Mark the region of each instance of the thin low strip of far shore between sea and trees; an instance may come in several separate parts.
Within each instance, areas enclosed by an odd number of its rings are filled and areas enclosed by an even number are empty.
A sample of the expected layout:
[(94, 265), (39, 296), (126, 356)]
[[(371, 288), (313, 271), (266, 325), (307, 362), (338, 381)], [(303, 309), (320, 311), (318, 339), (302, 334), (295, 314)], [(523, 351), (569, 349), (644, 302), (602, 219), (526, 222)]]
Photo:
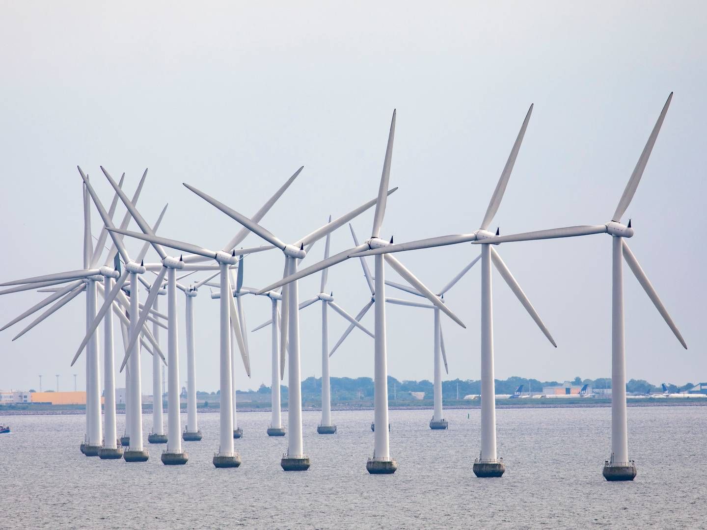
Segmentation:
[[(538, 403), (538, 399), (533, 399), (529, 402), (527, 399), (523, 400), (510, 400), (512, 403), (506, 403), (506, 399), (496, 401), (496, 409), (506, 409), (506, 408), (607, 408), (611, 406), (610, 399), (543, 399), (542, 402)], [(629, 399), (627, 401), (629, 407), (664, 407), (664, 406), (707, 406), (706, 398), (661, 398), (661, 399)], [(32, 410), (31, 408), (14, 408), (13, 406), (0, 406), (0, 417), (2, 416), (75, 416), (75, 415), (86, 415), (85, 408), (64, 408), (64, 406), (44, 406), (49, 408), (37, 408)], [(431, 411), (432, 404), (420, 404), (418, 406), (390, 406), (391, 411)], [(447, 410), (474, 410), (479, 409), (479, 401), (469, 401), (469, 404), (453, 404), (445, 405)], [(303, 411), (321, 411), (321, 406), (303, 406)], [(164, 409), (165, 413), (167, 409)], [(217, 413), (218, 408), (208, 407), (199, 408), (199, 413)], [(270, 412), (269, 407), (244, 407), (238, 408), (239, 413), (247, 412)], [(287, 407), (282, 408), (283, 412), (287, 411)], [(337, 406), (332, 405), (332, 411), (373, 411), (373, 404), (366, 404), (361, 406)], [(152, 407), (144, 407), (143, 413), (148, 414), (152, 412)], [(182, 407), (182, 412), (186, 412), (186, 408)], [(124, 414), (124, 409), (118, 410), (118, 414)]]

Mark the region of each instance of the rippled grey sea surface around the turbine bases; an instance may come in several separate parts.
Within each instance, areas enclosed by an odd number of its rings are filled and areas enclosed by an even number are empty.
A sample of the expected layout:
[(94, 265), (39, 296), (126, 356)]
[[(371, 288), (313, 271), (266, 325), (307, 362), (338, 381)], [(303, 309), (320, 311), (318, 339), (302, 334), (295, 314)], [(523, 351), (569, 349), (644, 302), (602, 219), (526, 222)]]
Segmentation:
[(240, 414), (238, 469), (211, 464), (217, 413), (200, 416), (185, 466), (149, 444), (144, 464), (84, 457), (83, 416), (0, 418), (13, 429), (0, 435), (0, 528), (707, 528), (707, 406), (629, 408), (632, 483), (602, 478), (609, 408), (497, 414), (500, 479), (472, 473), (478, 410), (446, 411), (448, 431), (428, 428), (431, 411), (391, 411), (392, 476), (366, 472), (373, 411), (335, 411), (333, 436), (305, 412), (312, 467), (300, 473), (281, 471), (286, 440), (265, 434), (269, 413)]

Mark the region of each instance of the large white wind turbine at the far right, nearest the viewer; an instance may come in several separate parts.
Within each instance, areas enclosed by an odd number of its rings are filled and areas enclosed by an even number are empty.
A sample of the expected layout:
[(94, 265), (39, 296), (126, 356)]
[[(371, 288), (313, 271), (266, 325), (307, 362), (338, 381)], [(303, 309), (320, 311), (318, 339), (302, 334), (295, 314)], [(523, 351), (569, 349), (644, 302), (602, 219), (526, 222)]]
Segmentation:
[[(682, 335), (668, 314), (665, 306), (660, 301), (658, 293), (655, 292), (643, 268), (638, 264), (638, 260), (629, 249), (626, 238), (633, 236), (631, 220), (628, 225), (621, 223), (621, 217), (626, 213), (626, 208), (631, 204), (633, 195), (636, 194), (639, 182), (643, 176), (645, 166), (648, 164), (655, 140), (658, 138), (660, 127), (667, 114), (672, 100), (672, 92), (667, 98), (665, 105), (658, 116), (658, 121), (653, 126), (648, 141), (645, 143), (643, 152), (638, 158), (638, 163), (633, 169), (631, 178), (626, 184), (624, 193), (619, 199), (616, 211), (611, 220), (604, 225), (583, 225), (568, 226), (564, 228), (554, 228), (550, 230), (539, 230), (537, 232), (525, 232), (522, 234), (508, 235), (502, 237), (491, 237), (482, 243), (501, 243), (510, 241), (531, 241), (542, 239), (553, 239), (556, 237), (575, 237), (579, 235), (609, 234), (612, 236), (612, 452), (607, 461), (604, 461), (602, 474), (607, 481), (632, 481), (636, 477), (636, 464), (629, 459), (629, 437), (626, 425), (626, 343), (624, 340), (624, 272), (621, 266), (621, 259), (626, 260), (629, 269), (636, 276), (648, 298), (653, 302), (655, 308), (663, 317), (665, 323), (670, 327), (674, 336), (687, 349), (687, 345)], [(489, 248), (483, 245), (482, 249)]]

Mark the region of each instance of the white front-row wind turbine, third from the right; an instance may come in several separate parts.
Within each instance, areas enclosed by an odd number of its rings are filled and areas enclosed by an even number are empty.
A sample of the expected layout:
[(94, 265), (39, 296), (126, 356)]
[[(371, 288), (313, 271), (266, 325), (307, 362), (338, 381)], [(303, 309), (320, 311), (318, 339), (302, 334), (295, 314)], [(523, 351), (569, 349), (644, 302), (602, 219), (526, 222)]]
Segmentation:
[[(385, 159), (383, 162), (383, 170), (380, 177), (380, 186), (378, 188), (378, 199), (375, 201), (375, 214), (373, 216), (373, 230), (368, 240), (363, 242), (363, 245), (357, 245), (353, 249), (344, 250), (339, 254), (320, 261), (317, 264), (296, 271), (296, 269), (285, 269), (286, 277), (267, 288), (259, 291), (258, 294), (265, 293), (269, 290), (278, 288), (280, 285), (286, 285), (284, 292), (294, 289), (299, 278), (308, 276), (312, 273), (326, 269), (329, 266), (340, 263), (352, 257), (357, 252), (363, 252), (368, 249), (386, 247), (392, 244), (380, 238), (380, 228), (385, 216), (385, 204), (387, 196), (388, 182), (390, 180), (390, 163), (392, 160), (393, 138), (395, 136), (395, 110), (393, 111), (392, 120), (390, 122), (390, 133), (388, 134), (388, 142), (385, 150)], [(397, 188), (395, 188), (397, 189)], [(383, 271), (384, 257), (378, 256), (375, 258), (375, 297), (373, 305), (375, 305), (375, 423), (378, 425), (388, 425), (388, 391), (387, 391), (387, 355), (386, 355), (386, 338), (385, 338), (385, 275)], [(413, 273), (400, 263), (395, 257), (386, 255), (385, 261), (392, 266), (400, 276), (405, 278), (411, 285), (414, 285), (421, 293), (423, 293), (432, 303), (440, 308), (452, 320), (465, 327), (463, 322), (456, 317), (448, 307), (440, 302), (439, 298), (432, 293), (421, 281), (419, 281)], [(292, 282), (292, 283), (291, 283)], [(290, 285), (291, 283), (291, 285)], [(296, 304), (291, 306), (293, 313), (296, 315)], [(369, 457), (366, 462), (366, 469), (369, 473), (375, 474), (390, 474), (395, 473), (397, 462), (390, 457), (390, 441), (388, 438), (387, 429), (378, 429), (375, 431), (375, 448), (373, 457)]]

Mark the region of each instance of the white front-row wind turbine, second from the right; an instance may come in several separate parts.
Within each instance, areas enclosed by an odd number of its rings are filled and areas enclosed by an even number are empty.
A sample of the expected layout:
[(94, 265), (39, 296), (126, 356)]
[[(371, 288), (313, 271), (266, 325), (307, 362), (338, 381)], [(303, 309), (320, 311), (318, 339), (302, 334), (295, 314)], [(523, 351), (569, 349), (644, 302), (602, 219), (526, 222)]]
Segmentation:
[[(472, 232), (470, 234), (459, 234), (459, 235), (445, 235), (441, 237), (431, 237), (424, 240), (417, 240), (397, 245), (392, 245), (392, 243), (379, 242), (377, 240), (375, 245), (368, 245), (370, 249), (361, 248), (351, 249), (347, 251), (344, 258), (346, 257), (363, 257), (375, 255), (376, 260), (380, 259), (380, 256), (385, 255), (386, 258), (390, 258), (389, 252), (402, 252), (406, 250), (413, 249), (423, 249), (431, 247), (440, 247), (444, 245), (455, 245), (463, 242), (471, 242), (476, 240), (484, 240), (488, 237), (493, 237), (493, 232), (489, 232), (489, 225), (493, 217), (498, 211), (498, 206), (501, 206), (501, 199), (503, 199), (503, 193), (506, 191), (506, 186), (508, 184), (508, 179), (510, 179), (510, 173), (513, 170), (513, 165), (515, 165), (515, 159), (518, 157), (518, 151), (520, 150), (520, 144), (522, 143), (523, 136), (525, 136), (525, 129), (527, 129), (528, 121), (530, 120), (530, 114), (532, 113), (533, 106), (530, 105), (525, 120), (523, 120), (522, 126), (520, 127), (520, 132), (515, 139), (513, 148), (510, 151), (508, 160), (506, 161), (506, 166), (503, 167), (501, 172), (501, 177), (498, 179), (498, 184), (496, 184), (496, 189), (493, 191), (491, 196), (491, 201), (489, 201), (489, 206), (486, 208), (486, 214), (484, 215), (484, 220), (481, 221), (481, 228)], [(497, 230), (498, 232), (498, 230)], [(342, 253), (344, 254), (344, 253)], [(378, 261), (376, 261), (378, 264)], [(539, 326), (543, 334), (547, 337), (550, 343), (556, 347), (555, 341), (550, 335), (547, 327), (540, 319), (539, 314), (534, 310), (530, 300), (527, 299), (525, 293), (523, 293), (518, 282), (513, 278), (513, 274), (510, 273), (508, 267), (501, 259), (501, 256), (489, 245), (484, 245), (481, 251), (481, 452), (479, 458), (474, 461), (474, 474), (478, 477), (499, 477), (503, 475), (506, 471), (506, 466), (503, 464), (503, 459), (498, 458), (498, 452), (496, 450), (496, 391), (494, 389), (494, 376), (493, 376), (493, 306), (491, 300), (491, 263), (496, 266), (496, 269), (503, 279), (508, 283), (508, 286), (513, 293), (518, 298), (520, 303), (525, 307), (525, 310), (530, 314), (530, 317)], [(382, 273), (382, 266), (380, 267), (380, 272)], [(399, 271), (398, 271), (399, 272)], [(378, 266), (376, 266), (375, 282), (378, 285), (383, 282), (382, 277), (379, 280), (381, 274), (378, 273)], [(411, 283), (409, 278), (404, 274), (401, 274), (408, 283)], [(425, 294), (428, 300), (433, 302), (440, 310), (446, 312), (445, 305), (441, 302), (439, 298), (433, 293), (423, 292), (418, 285), (411, 283), (414, 288), (420, 290), (421, 293)], [(425, 288), (426, 289), (426, 288)], [(377, 300), (378, 302), (378, 300)], [(376, 331), (376, 336), (378, 336), (378, 331)], [(378, 420), (376, 420), (378, 423)]]

